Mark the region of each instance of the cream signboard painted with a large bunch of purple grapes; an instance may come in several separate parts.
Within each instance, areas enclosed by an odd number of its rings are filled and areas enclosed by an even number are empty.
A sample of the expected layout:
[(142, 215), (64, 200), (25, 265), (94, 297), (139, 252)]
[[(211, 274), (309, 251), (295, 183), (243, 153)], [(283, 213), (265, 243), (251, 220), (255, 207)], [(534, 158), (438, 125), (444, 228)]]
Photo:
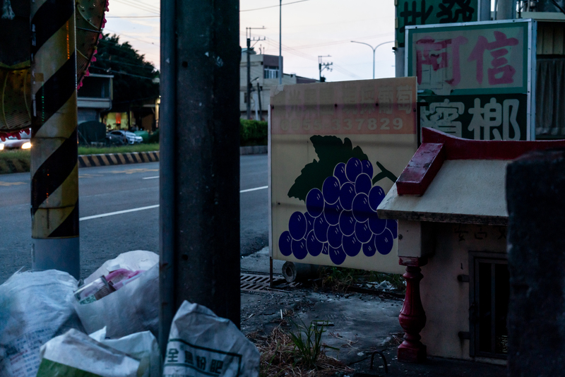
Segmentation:
[(398, 224), (376, 207), (417, 149), (416, 79), (270, 93), (271, 256), (402, 273)]

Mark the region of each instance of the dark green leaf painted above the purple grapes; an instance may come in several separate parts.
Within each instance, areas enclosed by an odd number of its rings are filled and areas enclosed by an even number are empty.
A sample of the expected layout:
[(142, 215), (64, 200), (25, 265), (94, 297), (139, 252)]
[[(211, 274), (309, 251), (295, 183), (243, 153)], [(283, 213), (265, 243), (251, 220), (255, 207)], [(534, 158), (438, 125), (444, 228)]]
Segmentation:
[(347, 163), (350, 158), (369, 160), (369, 157), (359, 148), (353, 148), (351, 140), (341, 140), (337, 136), (314, 135), (310, 138), (319, 160), (313, 160), (301, 171), (295, 179), (295, 184), (288, 191), (289, 198), (306, 201), (306, 196), (312, 188), (322, 189), (323, 181), (333, 175), (335, 165), (340, 162)]

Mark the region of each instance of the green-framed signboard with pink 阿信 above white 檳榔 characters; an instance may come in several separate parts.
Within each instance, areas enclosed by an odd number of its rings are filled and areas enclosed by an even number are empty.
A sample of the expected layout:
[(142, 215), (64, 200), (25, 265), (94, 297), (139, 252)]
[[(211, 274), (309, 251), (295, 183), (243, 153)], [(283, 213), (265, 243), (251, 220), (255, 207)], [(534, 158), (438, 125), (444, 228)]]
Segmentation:
[(475, 140), (533, 140), (535, 21), (406, 28), (421, 126)]

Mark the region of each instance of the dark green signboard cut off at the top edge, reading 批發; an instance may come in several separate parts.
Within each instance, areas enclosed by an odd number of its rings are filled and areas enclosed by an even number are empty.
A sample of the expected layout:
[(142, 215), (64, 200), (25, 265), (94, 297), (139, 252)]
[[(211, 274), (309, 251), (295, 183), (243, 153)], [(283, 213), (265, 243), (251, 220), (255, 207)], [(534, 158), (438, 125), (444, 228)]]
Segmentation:
[(478, 0), (398, 0), (396, 5), (396, 44), (404, 47), (408, 25), (468, 23), (478, 20)]

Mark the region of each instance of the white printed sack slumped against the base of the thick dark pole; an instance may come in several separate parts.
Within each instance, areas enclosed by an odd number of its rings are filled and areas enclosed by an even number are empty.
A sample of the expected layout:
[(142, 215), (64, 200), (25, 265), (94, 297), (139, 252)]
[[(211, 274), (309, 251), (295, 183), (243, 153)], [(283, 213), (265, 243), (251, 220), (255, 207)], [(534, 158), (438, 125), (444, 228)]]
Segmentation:
[(172, 320), (163, 377), (257, 377), (259, 357), (232, 321), (184, 301)]

